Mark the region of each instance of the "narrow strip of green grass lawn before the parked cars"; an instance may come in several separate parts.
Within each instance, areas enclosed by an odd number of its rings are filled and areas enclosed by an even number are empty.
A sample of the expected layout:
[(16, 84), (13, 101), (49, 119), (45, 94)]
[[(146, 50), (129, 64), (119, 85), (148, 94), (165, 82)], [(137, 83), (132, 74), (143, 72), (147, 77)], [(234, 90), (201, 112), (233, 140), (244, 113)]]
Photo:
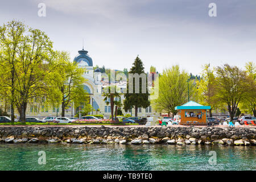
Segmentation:
[[(9, 125), (9, 126), (27, 126), (27, 125), (122, 125), (122, 123), (118, 124), (112, 124), (112, 123), (104, 123), (104, 124), (99, 124), (99, 123), (39, 123), (39, 122), (26, 122), (26, 123), (21, 123), (21, 122), (14, 122), (12, 123), (0, 123), (1, 125)], [(127, 123), (126, 125), (139, 125), (138, 123)]]

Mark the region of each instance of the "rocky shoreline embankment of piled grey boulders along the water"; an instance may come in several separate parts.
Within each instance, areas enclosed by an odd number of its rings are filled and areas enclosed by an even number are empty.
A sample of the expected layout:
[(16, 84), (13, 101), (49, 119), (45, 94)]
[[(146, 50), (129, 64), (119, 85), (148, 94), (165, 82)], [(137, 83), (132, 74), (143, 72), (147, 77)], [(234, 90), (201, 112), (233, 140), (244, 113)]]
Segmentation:
[(255, 139), (255, 128), (237, 127), (0, 127), (0, 143), (255, 146)]

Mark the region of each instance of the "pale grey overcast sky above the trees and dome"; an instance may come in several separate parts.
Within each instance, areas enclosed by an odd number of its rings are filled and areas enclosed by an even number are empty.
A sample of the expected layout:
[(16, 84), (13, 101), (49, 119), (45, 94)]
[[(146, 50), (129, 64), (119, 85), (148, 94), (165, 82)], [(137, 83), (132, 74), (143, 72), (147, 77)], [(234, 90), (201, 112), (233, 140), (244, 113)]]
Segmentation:
[[(38, 4), (46, 4), (46, 17)], [(217, 16), (210, 17), (209, 3)], [(131, 68), (139, 55), (146, 72), (179, 64), (198, 75), (201, 65), (243, 68), (256, 58), (255, 0), (23, 0), (1, 1), (0, 23), (22, 20), (47, 33), (71, 59), (84, 48), (93, 65)]]

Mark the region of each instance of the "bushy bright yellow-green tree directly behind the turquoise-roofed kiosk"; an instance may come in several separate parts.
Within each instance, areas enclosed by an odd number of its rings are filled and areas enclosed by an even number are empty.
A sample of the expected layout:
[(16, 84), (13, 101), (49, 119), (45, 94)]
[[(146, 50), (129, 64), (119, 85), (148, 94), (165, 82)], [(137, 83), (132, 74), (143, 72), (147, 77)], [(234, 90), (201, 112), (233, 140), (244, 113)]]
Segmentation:
[(164, 69), (159, 77), (159, 96), (152, 100), (152, 106), (160, 113), (174, 113), (175, 106), (180, 106), (188, 101), (188, 88), (190, 100), (197, 100), (196, 86), (185, 71), (180, 71), (179, 65)]

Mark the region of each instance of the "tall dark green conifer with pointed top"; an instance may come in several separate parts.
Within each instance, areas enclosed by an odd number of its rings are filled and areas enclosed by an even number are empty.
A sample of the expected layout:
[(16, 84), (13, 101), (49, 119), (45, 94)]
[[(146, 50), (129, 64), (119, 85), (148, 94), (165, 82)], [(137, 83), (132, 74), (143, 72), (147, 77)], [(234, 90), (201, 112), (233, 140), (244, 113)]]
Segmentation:
[[(139, 76), (137, 80), (134, 76)], [(139, 81), (138, 86), (136, 86), (136, 81)], [(133, 84), (133, 90), (129, 90), (130, 84)], [(137, 88), (135, 88), (137, 87)], [(136, 93), (136, 89), (139, 91)], [(146, 89), (146, 93), (143, 93), (142, 90)], [(146, 108), (150, 106), (150, 100), (148, 100), (148, 93), (147, 89), (147, 76), (144, 72), (144, 67), (142, 60), (139, 59), (137, 56), (133, 67), (131, 67), (129, 71), (129, 78), (127, 82), (127, 93), (125, 93), (125, 100), (123, 101), (123, 108), (125, 111), (131, 108), (135, 108), (135, 117), (138, 115), (138, 107)]]

